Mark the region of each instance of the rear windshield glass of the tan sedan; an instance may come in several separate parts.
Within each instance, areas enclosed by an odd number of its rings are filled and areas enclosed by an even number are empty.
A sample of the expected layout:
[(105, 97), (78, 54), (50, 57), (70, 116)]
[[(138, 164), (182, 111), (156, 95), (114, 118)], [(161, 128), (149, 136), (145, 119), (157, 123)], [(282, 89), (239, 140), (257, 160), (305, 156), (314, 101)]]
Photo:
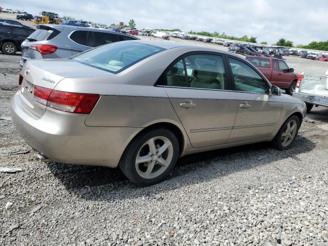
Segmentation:
[(119, 73), (158, 52), (166, 50), (154, 45), (124, 41), (100, 46), (72, 57), (78, 63), (111, 73)]

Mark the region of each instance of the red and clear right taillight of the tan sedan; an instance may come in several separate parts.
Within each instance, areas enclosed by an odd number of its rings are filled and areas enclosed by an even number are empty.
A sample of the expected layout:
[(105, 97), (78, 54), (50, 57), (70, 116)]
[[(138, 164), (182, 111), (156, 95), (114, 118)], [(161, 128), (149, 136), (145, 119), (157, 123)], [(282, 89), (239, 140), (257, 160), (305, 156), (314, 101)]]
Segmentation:
[(34, 86), (34, 100), (59, 111), (90, 114), (98, 99), (98, 94), (72, 93)]

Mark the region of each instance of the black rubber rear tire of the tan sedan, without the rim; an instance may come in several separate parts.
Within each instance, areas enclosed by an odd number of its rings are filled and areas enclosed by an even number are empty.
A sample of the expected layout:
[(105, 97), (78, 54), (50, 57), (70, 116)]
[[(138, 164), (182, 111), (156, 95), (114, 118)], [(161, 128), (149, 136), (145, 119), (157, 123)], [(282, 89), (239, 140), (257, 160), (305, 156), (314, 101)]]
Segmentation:
[[(146, 144), (146, 142), (154, 137), (165, 137), (171, 141), (173, 156), (170, 164), (167, 166), (165, 171), (154, 178), (144, 178), (141, 177), (136, 168), (136, 158), (139, 154), (140, 149), (142, 146)], [(121, 169), (122, 173), (129, 178), (132, 182), (136, 183), (139, 186), (151, 186), (155, 183), (158, 183), (165, 179), (171, 170), (174, 168), (176, 161), (179, 156), (179, 142), (177, 137), (173, 132), (168, 129), (160, 128), (160, 129), (153, 129), (148, 132), (141, 133), (139, 136), (135, 137), (123, 153), (118, 166)], [(159, 156), (160, 157), (160, 156)], [(145, 163), (144, 163), (145, 164)]]

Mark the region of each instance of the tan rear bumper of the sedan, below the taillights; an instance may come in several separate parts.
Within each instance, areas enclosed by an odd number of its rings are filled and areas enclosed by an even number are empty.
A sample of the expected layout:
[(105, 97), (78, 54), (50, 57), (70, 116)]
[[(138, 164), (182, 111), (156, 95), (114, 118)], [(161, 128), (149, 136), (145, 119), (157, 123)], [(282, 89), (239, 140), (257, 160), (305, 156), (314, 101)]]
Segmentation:
[(11, 99), (13, 124), (28, 145), (49, 159), (61, 163), (115, 168), (130, 140), (142, 128), (87, 127), (88, 115), (47, 108), (37, 118), (20, 102)]

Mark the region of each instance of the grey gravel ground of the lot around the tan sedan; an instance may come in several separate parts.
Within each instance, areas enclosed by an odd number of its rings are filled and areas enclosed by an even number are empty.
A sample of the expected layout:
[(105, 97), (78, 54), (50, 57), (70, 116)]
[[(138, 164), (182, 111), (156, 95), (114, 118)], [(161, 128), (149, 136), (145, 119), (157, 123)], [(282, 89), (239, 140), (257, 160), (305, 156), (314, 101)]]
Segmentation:
[[(0, 118), (19, 58), (0, 53)], [(2, 119), (0, 166), (23, 172), (0, 173), (0, 245), (328, 245), (328, 109), (314, 108), (295, 144), (183, 157), (167, 180), (139, 188), (118, 169), (40, 162)]]

